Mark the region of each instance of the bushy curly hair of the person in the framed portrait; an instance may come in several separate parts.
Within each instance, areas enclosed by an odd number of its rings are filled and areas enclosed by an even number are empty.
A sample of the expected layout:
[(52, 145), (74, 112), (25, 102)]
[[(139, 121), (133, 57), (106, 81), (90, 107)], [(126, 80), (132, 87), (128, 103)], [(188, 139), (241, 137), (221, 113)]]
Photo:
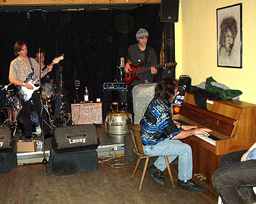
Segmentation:
[(238, 35), (238, 23), (233, 16), (223, 18), (223, 21), (220, 23), (220, 47), (225, 47), (225, 36), (227, 35), (228, 30), (230, 30), (235, 39)]

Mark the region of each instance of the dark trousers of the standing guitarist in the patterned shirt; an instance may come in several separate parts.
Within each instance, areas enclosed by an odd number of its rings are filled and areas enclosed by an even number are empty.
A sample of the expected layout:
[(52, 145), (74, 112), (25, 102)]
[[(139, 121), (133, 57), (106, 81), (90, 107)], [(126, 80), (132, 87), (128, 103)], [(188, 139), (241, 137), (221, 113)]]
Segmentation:
[(23, 127), (25, 131), (25, 136), (32, 136), (32, 127), (31, 127), (31, 104), (33, 101), (33, 106), (35, 108), (36, 114), (38, 115), (39, 124), (42, 124), (41, 119), (41, 101), (40, 94), (38, 91), (33, 92), (33, 95), (30, 100), (27, 102), (21, 102), (22, 109), (21, 112), (23, 114)]

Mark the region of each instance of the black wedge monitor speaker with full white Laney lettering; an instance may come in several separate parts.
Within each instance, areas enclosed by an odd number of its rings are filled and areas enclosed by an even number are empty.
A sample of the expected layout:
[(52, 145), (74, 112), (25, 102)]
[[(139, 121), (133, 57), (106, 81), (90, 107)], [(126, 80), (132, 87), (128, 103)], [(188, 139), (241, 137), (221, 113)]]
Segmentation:
[(94, 124), (57, 127), (53, 136), (55, 153), (97, 149), (100, 139)]

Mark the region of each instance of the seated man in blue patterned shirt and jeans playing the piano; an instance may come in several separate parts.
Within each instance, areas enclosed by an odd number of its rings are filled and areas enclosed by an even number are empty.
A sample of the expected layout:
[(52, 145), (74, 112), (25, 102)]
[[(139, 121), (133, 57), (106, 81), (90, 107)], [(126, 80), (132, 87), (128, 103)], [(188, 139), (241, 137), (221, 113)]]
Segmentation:
[(178, 156), (177, 187), (199, 192), (202, 190), (201, 186), (192, 180), (193, 159), (191, 146), (184, 144), (179, 139), (187, 138), (193, 134), (209, 136), (211, 130), (198, 129), (196, 126), (174, 122), (171, 114), (171, 103), (174, 102), (176, 95), (178, 95), (178, 81), (171, 77), (163, 78), (156, 85), (154, 99), (151, 100), (140, 122), (144, 154), (160, 155), (147, 171), (156, 181), (164, 184), (163, 171), (166, 168), (164, 156), (168, 156), (170, 163)]

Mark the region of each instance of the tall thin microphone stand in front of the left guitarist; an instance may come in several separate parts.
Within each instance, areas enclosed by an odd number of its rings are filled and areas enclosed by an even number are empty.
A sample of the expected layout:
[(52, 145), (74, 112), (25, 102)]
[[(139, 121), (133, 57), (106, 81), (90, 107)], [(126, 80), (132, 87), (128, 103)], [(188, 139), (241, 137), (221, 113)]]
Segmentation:
[(43, 161), (42, 163), (46, 166), (46, 176), (48, 176), (48, 169), (47, 169), (47, 159), (46, 159), (46, 139), (43, 132), (43, 100), (41, 98), (41, 91), (42, 91), (42, 84), (41, 84), (41, 48), (38, 49), (39, 52), (39, 96), (41, 102), (41, 129), (42, 129), (42, 139), (43, 139)]

